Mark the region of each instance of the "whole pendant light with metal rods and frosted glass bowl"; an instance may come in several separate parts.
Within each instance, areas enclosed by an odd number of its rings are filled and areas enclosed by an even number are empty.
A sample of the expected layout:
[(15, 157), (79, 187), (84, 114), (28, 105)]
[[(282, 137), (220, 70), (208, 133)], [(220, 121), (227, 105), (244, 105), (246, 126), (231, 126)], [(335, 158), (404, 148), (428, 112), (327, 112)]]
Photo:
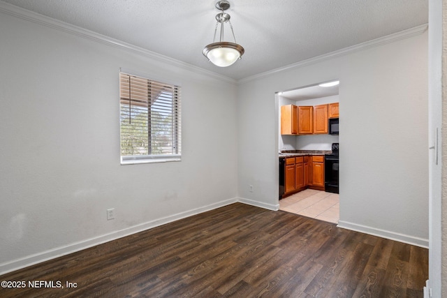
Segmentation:
[[(216, 8), (221, 10), (221, 13), (216, 15), (216, 28), (214, 29), (214, 38), (212, 43), (207, 45), (203, 49), (203, 55), (207, 57), (212, 64), (220, 67), (226, 67), (234, 64), (237, 59), (240, 59), (244, 54), (244, 48), (236, 43), (235, 32), (233, 31), (233, 25), (230, 22), (230, 15), (224, 13), (225, 10), (230, 8), (230, 3), (228, 1), (219, 1), (216, 3)], [(228, 22), (230, 24), (231, 33), (233, 33), (234, 43), (223, 40), (223, 24)], [(219, 42), (215, 42), (217, 27), (221, 25)]]

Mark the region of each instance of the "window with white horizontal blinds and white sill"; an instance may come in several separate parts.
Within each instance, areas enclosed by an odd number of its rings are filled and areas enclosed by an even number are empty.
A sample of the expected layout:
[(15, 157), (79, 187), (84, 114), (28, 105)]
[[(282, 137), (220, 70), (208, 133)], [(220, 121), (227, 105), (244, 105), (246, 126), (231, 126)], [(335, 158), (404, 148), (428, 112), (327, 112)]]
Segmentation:
[(180, 161), (180, 87), (119, 73), (121, 163)]

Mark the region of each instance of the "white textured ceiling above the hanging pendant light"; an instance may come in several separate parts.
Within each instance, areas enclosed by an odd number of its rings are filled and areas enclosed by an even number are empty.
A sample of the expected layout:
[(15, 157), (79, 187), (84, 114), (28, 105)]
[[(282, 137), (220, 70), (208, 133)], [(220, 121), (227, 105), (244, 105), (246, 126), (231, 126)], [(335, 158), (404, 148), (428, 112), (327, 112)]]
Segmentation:
[(245, 54), (219, 68), (202, 54), (212, 43), (217, 1), (3, 1), (235, 80), (428, 22), (428, 0), (230, 0)]

